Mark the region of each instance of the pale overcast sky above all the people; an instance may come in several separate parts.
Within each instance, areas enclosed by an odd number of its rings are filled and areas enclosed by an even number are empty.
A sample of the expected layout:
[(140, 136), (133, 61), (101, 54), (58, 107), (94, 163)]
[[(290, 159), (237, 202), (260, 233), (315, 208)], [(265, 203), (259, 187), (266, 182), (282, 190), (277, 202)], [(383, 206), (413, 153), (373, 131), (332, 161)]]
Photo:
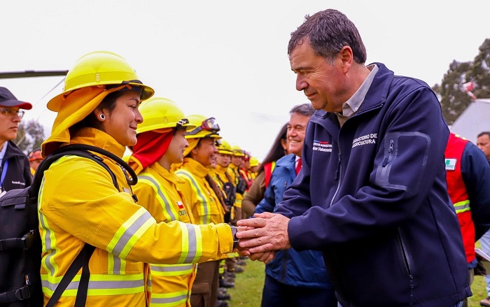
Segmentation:
[[(358, 27), (367, 63), (440, 83), (449, 64), (472, 61), (490, 37), (490, 1), (2, 1), (0, 71), (70, 69), (109, 50), (125, 57), (158, 97), (187, 115), (214, 116), (221, 136), (259, 159), (288, 111), (309, 103), (295, 90), (286, 48), (304, 15), (341, 10)], [(62, 77), (0, 79), (34, 104), (25, 119), (50, 133), (45, 105)], [(51, 91), (51, 92), (50, 92)]]

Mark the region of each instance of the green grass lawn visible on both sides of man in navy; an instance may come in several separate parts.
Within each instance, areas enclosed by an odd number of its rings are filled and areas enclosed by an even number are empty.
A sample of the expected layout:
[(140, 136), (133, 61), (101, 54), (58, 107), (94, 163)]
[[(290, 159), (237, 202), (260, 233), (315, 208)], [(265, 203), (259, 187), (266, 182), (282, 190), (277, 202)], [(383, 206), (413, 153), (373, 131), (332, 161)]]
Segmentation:
[[(246, 260), (244, 273), (237, 274), (235, 288), (228, 290), (232, 300), (230, 307), (246, 306), (260, 307), (262, 287), (264, 287), (265, 264), (258, 261)], [(469, 307), (479, 307), (479, 301), (486, 297), (485, 279), (475, 276), (471, 285), (473, 296), (468, 298)]]

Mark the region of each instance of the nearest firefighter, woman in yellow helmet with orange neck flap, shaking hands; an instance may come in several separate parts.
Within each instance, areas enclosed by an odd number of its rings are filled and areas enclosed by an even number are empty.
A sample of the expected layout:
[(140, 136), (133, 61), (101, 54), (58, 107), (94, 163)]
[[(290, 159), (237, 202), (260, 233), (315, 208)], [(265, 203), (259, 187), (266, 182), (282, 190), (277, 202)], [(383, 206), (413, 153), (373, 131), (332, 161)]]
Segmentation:
[[(66, 76), (64, 92), (48, 102), (57, 117), (42, 145), (43, 156), (78, 143), (122, 157), (125, 146), (137, 143), (137, 125), (143, 122), (139, 103), (153, 93), (116, 54), (80, 57)], [(64, 156), (45, 171), (38, 201), (45, 302), (86, 243), (95, 247), (87, 306), (146, 306), (151, 299), (146, 263), (207, 262), (232, 252), (234, 236), (228, 224), (157, 222), (135, 203), (120, 165), (94, 155), (109, 166), (119, 190), (106, 169), (91, 159)], [(80, 273), (57, 306), (73, 306), (79, 280)]]

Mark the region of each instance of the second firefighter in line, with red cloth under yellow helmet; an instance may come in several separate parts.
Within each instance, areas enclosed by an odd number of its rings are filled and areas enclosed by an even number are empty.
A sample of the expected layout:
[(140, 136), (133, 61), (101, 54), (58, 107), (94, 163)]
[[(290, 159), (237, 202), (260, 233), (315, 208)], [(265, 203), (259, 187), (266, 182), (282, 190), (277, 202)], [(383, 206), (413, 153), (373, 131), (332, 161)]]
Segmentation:
[[(138, 204), (157, 222), (191, 223), (190, 208), (177, 187), (182, 179), (171, 166), (183, 162), (183, 152), (188, 146), (186, 129), (195, 126), (189, 124), (181, 109), (169, 99), (151, 97), (141, 103), (139, 111), (144, 122), (138, 125), (138, 141), (132, 146), (129, 159), (138, 174), (133, 189)], [(190, 307), (195, 268), (195, 264), (151, 264), (150, 306)]]

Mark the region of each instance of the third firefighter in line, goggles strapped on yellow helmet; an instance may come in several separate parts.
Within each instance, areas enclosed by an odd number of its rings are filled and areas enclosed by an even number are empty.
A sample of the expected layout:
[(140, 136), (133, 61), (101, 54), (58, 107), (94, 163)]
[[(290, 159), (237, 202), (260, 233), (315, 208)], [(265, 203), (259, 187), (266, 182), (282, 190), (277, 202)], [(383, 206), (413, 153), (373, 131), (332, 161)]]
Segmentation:
[[(218, 155), (216, 140), (220, 139), (220, 127), (214, 117), (189, 115), (195, 129), (186, 132), (189, 142), (184, 152), (183, 164), (176, 174), (186, 181), (181, 190), (189, 204), (197, 224), (219, 224), (229, 212), (223, 193), (211, 177), (211, 164)], [(190, 306), (215, 307), (218, 302), (220, 260), (205, 262), (197, 266), (197, 276), (190, 296)]]

